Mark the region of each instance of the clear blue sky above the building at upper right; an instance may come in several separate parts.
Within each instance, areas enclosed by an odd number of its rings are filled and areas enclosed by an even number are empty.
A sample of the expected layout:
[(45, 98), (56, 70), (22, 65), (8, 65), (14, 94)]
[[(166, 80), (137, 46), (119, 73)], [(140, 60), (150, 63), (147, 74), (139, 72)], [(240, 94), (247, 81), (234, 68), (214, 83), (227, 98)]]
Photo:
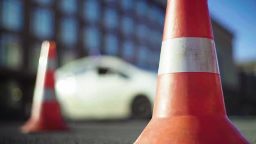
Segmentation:
[(211, 18), (234, 34), (236, 63), (256, 61), (256, 0), (208, 0)]

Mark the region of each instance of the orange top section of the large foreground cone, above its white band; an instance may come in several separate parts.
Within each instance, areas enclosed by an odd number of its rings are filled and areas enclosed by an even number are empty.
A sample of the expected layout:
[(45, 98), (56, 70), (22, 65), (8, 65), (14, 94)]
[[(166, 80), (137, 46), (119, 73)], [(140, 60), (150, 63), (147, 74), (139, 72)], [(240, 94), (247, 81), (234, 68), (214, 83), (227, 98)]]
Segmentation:
[(163, 41), (177, 37), (213, 38), (207, 0), (168, 0)]

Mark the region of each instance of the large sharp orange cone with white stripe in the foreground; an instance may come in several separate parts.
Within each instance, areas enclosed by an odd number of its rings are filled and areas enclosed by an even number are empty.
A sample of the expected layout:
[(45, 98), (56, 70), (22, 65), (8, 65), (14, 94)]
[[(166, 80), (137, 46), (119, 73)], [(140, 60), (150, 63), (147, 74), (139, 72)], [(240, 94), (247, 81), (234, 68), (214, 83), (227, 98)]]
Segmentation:
[(207, 0), (168, 0), (152, 119), (136, 144), (248, 144), (227, 118)]

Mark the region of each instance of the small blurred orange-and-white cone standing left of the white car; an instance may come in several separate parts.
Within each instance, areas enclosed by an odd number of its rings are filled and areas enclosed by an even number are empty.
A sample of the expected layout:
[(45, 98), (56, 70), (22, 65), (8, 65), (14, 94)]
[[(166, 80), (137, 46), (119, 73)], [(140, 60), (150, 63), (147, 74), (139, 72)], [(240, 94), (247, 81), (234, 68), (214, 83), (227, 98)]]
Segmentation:
[(44, 41), (38, 64), (32, 114), (27, 123), (21, 127), (24, 133), (67, 130), (54, 91), (55, 68), (56, 43)]

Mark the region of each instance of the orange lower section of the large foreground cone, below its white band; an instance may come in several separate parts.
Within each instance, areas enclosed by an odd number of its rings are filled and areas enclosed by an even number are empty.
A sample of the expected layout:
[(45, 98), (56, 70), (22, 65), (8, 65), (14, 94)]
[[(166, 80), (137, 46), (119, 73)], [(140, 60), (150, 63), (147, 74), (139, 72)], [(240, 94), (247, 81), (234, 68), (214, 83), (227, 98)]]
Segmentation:
[(219, 74), (158, 76), (152, 120), (136, 144), (248, 144), (229, 121)]

